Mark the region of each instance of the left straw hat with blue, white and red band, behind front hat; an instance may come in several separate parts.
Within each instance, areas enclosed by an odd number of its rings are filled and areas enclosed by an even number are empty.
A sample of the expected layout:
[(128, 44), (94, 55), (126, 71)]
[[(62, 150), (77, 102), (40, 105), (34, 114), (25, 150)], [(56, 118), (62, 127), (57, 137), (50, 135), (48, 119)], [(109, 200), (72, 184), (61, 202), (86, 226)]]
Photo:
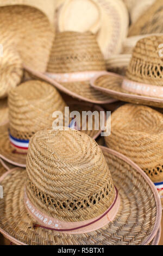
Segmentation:
[(52, 127), (53, 112), (64, 111), (66, 104), (54, 87), (31, 80), (11, 90), (8, 105), (9, 126), (0, 126), (0, 156), (25, 167), (29, 138), (36, 131)]

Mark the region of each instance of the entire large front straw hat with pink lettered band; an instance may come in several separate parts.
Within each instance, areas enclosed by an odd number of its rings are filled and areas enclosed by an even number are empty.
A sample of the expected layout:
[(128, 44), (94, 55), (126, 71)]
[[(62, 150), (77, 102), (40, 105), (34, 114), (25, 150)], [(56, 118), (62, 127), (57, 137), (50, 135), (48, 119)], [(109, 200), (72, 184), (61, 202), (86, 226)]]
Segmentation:
[(27, 169), (0, 184), (0, 231), (18, 245), (146, 245), (160, 227), (147, 175), (79, 131), (35, 133)]

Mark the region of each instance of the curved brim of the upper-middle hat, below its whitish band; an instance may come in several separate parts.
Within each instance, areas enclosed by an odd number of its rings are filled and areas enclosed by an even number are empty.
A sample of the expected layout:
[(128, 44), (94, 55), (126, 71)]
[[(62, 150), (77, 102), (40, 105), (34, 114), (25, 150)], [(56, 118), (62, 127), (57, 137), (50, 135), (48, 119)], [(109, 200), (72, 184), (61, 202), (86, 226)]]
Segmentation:
[(78, 100), (83, 100), (91, 103), (96, 104), (106, 104), (106, 103), (112, 103), (117, 100), (111, 99), (109, 96), (98, 92), (97, 90), (93, 89), (90, 86), (90, 81), (84, 81), (84, 82), (71, 82), (71, 83), (59, 83), (52, 78), (49, 78), (47, 75), (33, 70), (29, 68), (26, 65), (23, 65), (24, 69), (32, 76), (33, 78), (41, 79), (43, 81), (46, 81), (61, 92), (64, 92)]

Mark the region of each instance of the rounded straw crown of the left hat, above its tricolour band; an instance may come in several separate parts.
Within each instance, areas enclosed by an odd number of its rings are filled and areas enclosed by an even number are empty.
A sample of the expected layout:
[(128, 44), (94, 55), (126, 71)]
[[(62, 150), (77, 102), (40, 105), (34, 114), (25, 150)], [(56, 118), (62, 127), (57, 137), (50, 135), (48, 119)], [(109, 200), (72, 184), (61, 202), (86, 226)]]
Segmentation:
[(54, 111), (64, 111), (64, 100), (50, 84), (30, 80), (12, 89), (8, 97), (11, 136), (27, 140), (46, 127), (52, 127)]

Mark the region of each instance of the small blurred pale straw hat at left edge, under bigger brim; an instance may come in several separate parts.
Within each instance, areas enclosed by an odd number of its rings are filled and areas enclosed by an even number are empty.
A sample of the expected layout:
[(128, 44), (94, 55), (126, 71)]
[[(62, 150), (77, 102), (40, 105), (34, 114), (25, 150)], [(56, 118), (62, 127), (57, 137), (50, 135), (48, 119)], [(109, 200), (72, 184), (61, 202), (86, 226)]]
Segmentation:
[(10, 90), (21, 82), (23, 75), (22, 60), (13, 38), (9, 38), (7, 34), (8, 32), (5, 32), (0, 35), (0, 43), (3, 46), (2, 57), (0, 56), (0, 98), (7, 96)]

